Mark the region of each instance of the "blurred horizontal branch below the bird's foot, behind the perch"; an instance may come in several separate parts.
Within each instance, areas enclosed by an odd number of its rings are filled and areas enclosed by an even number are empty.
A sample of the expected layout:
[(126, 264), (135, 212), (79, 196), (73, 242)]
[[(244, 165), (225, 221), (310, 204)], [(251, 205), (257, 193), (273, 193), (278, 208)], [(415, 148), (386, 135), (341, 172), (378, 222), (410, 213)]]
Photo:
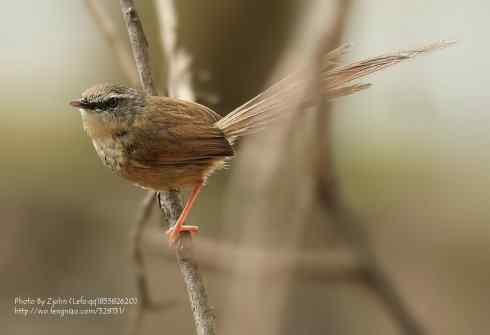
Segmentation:
[[(170, 248), (162, 247), (162, 239), (156, 234), (149, 234), (146, 239), (149, 252), (163, 257), (166, 260), (174, 260), (174, 252)], [(196, 261), (206, 271), (229, 276), (233, 274), (233, 266), (240, 259), (244, 264), (250, 265), (241, 275), (247, 280), (257, 278), (269, 281), (277, 281), (285, 274), (295, 271), (297, 278), (305, 281), (333, 283), (355, 281), (363, 278), (363, 272), (359, 266), (357, 257), (345, 248), (328, 249), (313, 252), (278, 251), (272, 248), (255, 248), (234, 245), (227, 242), (218, 242), (199, 238), (193, 242)], [(260, 260), (267, 264), (263, 272), (254, 271), (253, 264)]]

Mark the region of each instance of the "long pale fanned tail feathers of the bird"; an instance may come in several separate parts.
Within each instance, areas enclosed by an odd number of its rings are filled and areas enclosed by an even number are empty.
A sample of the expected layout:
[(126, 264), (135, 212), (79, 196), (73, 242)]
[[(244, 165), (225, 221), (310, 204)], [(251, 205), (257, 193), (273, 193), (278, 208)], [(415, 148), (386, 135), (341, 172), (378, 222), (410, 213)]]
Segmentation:
[[(397, 51), (347, 65), (339, 65), (337, 59), (349, 48), (349, 46), (342, 46), (325, 55), (320, 76), (322, 91), (330, 99), (359, 92), (367, 89), (371, 84), (355, 83), (355, 80), (452, 44), (454, 44), (453, 41), (440, 41), (421, 48)], [(311, 79), (306, 79), (307, 70), (301, 69), (283, 78), (216, 122), (216, 126), (233, 143), (237, 138), (260, 131), (276, 119), (288, 115), (289, 113), (285, 111), (290, 110), (288, 107), (291, 104), (308, 96), (305, 90), (310, 87)], [(308, 104), (306, 100), (303, 102)]]

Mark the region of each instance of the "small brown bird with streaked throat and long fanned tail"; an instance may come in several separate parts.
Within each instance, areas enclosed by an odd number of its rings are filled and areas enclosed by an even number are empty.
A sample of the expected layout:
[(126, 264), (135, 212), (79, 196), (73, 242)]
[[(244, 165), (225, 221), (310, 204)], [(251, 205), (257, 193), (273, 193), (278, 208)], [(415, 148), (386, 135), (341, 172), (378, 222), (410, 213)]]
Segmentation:
[[(345, 48), (336, 49), (325, 56), (322, 90), (330, 98), (352, 94), (369, 87), (352, 84), (353, 80), (448, 44), (439, 42), (344, 66), (338, 66), (336, 58)], [(84, 129), (107, 167), (154, 191), (192, 188), (177, 223), (167, 231), (174, 243), (181, 231), (198, 231), (197, 226), (184, 225), (185, 219), (206, 179), (235, 154), (236, 139), (284, 116), (281, 111), (293, 97), (304, 98), (298, 95), (304, 95), (309, 84), (299, 71), (223, 118), (195, 102), (146, 96), (111, 84), (95, 85), (70, 104), (80, 109)]]

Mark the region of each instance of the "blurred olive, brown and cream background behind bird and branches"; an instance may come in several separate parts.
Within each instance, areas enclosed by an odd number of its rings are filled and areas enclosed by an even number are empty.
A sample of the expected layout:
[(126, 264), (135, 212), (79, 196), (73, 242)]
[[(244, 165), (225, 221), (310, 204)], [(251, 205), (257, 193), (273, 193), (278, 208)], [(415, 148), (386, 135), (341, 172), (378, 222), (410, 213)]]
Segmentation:
[[(118, 1), (104, 5), (126, 38)], [(137, 5), (163, 92), (156, 7)], [(307, 22), (323, 15), (331, 20), (335, 6), (327, 0), (187, 0), (176, 7), (179, 45), (192, 57), (198, 100), (224, 115), (270, 83), (292, 39), (300, 55), (299, 46), (311, 48), (316, 30)], [(85, 2), (10, 1), (3, 8), (0, 324), (5, 334), (123, 333), (127, 314), (14, 314), (17, 296), (135, 296), (128, 234), (144, 192), (102, 166), (79, 113), (68, 106), (94, 83), (128, 83)], [(489, 11), (482, 0), (353, 1), (342, 37), (354, 45), (345, 61), (458, 40), (371, 76), (372, 88), (335, 101), (330, 125), (345, 202), (362, 218), (380, 262), (430, 334), (486, 334), (490, 327)], [(201, 226), (202, 238), (239, 243), (247, 220), (230, 219), (232, 209), (251, 201), (236, 182), (240, 164), (213, 176), (194, 207), (190, 220)], [(284, 185), (277, 197), (294, 192)], [(157, 216), (147, 235), (161, 234)], [(312, 227), (317, 230), (300, 231), (302, 242), (296, 242), (308, 244), (313, 236), (315, 246), (336, 243), (327, 228)], [(163, 234), (161, 243), (165, 249)], [(163, 253), (149, 252), (146, 260), (152, 296), (167, 307), (145, 315), (141, 333), (193, 334), (180, 273)], [(241, 281), (212, 270), (204, 276), (218, 327), (229, 329), (228, 307), (242, 306), (239, 299), (230, 303)], [(363, 285), (288, 278), (280, 304), (262, 305), (278, 308), (276, 333), (397, 333)], [(260, 286), (264, 300), (280, 280)], [(234, 333), (274, 333), (250, 304), (243, 303), (243, 323), (234, 323)]]

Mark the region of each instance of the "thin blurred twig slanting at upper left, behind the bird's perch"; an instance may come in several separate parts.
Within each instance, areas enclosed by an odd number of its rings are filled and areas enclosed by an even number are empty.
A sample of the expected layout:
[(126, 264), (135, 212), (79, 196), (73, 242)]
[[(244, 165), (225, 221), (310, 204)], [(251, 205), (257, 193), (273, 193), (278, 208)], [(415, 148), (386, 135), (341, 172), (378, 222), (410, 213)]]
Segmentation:
[(134, 70), (133, 59), (128, 52), (129, 50), (126, 50), (125, 41), (117, 33), (114, 21), (104, 8), (103, 2), (86, 0), (85, 4), (107, 43), (114, 50), (116, 59), (127, 79), (131, 85), (136, 85), (138, 83), (138, 77)]

